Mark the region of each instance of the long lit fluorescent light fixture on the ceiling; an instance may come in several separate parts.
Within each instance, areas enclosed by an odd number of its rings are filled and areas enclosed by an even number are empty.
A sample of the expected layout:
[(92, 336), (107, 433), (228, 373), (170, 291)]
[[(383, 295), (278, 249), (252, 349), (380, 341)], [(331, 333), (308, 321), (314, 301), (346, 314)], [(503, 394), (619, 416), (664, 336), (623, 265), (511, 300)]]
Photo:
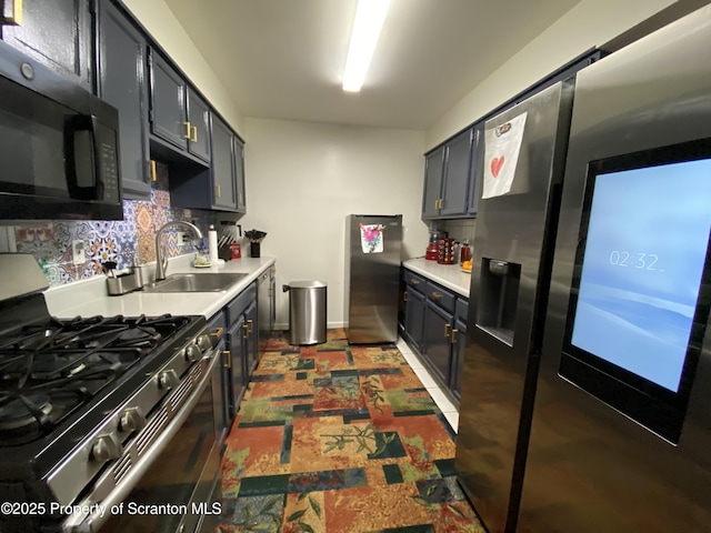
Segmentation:
[(351, 43), (348, 47), (343, 71), (344, 91), (360, 91), (389, 6), (390, 0), (358, 0)]

